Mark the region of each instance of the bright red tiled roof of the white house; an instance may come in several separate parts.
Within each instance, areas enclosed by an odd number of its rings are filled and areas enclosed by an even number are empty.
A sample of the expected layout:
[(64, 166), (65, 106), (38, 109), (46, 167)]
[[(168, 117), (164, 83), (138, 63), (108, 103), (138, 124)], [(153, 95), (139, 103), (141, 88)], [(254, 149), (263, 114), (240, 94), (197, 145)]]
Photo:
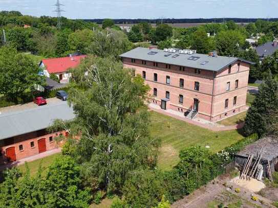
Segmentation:
[(81, 59), (87, 57), (86, 55), (73, 56), (73, 57), (62, 57), (62, 58), (49, 58), (42, 59), (46, 70), (49, 74), (67, 72), (70, 68), (75, 68), (81, 62)]

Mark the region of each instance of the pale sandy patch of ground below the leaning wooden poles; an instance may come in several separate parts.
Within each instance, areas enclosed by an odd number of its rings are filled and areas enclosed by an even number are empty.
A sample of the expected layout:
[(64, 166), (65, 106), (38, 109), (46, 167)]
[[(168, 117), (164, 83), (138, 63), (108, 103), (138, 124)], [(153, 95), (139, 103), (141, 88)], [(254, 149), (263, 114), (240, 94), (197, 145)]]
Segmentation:
[(231, 179), (231, 182), (236, 183), (238, 186), (248, 189), (252, 192), (259, 192), (266, 186), (262, 181), (250, 178), (250, 180), (239, 179), (239, 176)]

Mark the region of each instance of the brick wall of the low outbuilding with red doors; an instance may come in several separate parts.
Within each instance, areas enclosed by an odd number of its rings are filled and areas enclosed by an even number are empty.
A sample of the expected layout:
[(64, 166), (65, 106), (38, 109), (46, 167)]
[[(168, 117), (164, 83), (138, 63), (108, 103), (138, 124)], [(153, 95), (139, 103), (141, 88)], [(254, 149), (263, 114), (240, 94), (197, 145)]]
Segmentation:
[[(6, 151), (7, 149), (14, 147), (16, 160), (23, 159), (25, 157), (30, 157), (39, 154), (38, 141), (45, 138), (46, 151), (58, 148), (61, 143), (55, 141), (55, 137), (60, 134), (67, 136), (67, 131), (59, 131), (55, 133), (47, 133), (46, 130), (34, 131), (31, 133), (14, 136), (12, 138), (6, 138), (0, 141), (0, 164), (8, 163)], [(33, 147), (31, 147), (34, 145)], [(23, 148), (19, 149), (19, 146)]]

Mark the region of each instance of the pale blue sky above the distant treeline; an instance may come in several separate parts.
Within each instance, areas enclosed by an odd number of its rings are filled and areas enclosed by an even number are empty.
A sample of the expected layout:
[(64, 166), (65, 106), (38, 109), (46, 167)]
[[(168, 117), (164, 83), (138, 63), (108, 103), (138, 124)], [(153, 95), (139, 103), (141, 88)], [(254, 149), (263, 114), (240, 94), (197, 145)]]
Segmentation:
[[(278, 0), (60, 0), (68, 18), (278, 17)], [(56, 0), (0, 0), (0, 10), (55, 16)]]

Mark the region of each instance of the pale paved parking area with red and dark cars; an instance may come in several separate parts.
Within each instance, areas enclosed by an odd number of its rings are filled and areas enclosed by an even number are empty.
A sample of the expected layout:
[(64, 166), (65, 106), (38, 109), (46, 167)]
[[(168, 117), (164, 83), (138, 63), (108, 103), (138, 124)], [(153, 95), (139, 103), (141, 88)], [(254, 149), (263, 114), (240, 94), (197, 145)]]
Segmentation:
[[(49, 98), (46, 100), (47, 100), (47, 105), (52, 105), (52, 104), (56, 104), (59, 102), (67, 102), (67, 101), (61, 101), (58, 98)], [(38, 106), (37, 104), (35, 104), (33, 102), (25, 103), (25, 104), (18, 104), (18, 105), (0, 108), (0, 114), (16, 112), (16, 111), (20, 111), (20, 110), (26, 110), (26, 109), (30, 109), (30, 108), (39, 108), (39, 107), (40, 106)]]

